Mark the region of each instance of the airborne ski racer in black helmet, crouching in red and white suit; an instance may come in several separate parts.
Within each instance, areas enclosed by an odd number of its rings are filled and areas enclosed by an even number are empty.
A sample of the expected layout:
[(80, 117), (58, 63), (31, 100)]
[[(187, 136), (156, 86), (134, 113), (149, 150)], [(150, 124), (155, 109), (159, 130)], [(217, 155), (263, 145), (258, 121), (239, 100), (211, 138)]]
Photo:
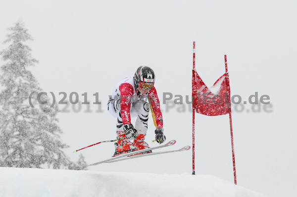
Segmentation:
[[(108, 101), (108, 112), (117, 118), (114, 156), (136, 150), (148, 149), (145, 136), (148, 130), (148, 112), (151, 108), (155, 140), (159, 144), (166, 140), (163, 134), (163, 118), (160, 102), (154, 87), (155, 75), (151, 68), (141, 66), (133, 78), (122, 79), (114, 88)], [(147, 102), (148, 101), (148, 102)], [(131, 117), (137, 117), (133, 126)], [(133, 143), (130, 141), (133, 140)], [(148, 151), (146, 153), (151, 153)]]

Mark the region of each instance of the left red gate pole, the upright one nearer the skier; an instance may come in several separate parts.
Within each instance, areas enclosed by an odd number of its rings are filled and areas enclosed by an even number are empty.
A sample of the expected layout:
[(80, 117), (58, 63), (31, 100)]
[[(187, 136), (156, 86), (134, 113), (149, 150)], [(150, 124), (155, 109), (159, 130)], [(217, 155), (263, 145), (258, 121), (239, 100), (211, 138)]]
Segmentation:
[(192, 110), (193, 110), (193, 125), (192, 125), (192, 174), (195, 175), (195, 91), (196, 91), (196, 71), (195, 71), (195, 41), (193, 42), (193, 77), (192, 77)]

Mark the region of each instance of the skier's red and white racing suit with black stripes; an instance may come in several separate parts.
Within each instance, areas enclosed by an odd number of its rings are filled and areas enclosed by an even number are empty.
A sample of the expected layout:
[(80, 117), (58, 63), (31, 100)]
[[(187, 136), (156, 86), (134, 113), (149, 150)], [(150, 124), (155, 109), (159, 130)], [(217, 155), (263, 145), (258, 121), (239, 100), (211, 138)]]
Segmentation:
[(108, 103), (108, 111), (118, 118), (117, 131), (123, 131), (123, 125), (131, 124), (131, 117), (137, 117), (134, 128), (139, 134), (146, 134), (149, 106), (156, 128), (163, 128), (160, 102), (155, 87), (152, 87), (146, 95), (138, 96), (133, 78), (125, 78), (114, 88)]

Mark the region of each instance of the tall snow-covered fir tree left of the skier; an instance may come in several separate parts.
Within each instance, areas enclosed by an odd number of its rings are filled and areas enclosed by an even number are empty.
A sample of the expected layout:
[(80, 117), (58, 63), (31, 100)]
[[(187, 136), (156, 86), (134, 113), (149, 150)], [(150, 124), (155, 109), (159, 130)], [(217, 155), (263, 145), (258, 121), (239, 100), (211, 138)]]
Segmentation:
[[(42, 88), (28, 67), (38, 61), (24, 44), (32, 37), (22, 22), (8, 30), (3, 43), (9, 46), (0, 52), (5, 63), (0, 67), (0, 166), (86, 169), (82, 155), (73, 162), (63, 153), (68, 146), (60, 140), (57, 108), (36, 102)], [(34, 108), (29, 104), (32, 92)], [(47, 100), (46, 95), (41, 100)]]

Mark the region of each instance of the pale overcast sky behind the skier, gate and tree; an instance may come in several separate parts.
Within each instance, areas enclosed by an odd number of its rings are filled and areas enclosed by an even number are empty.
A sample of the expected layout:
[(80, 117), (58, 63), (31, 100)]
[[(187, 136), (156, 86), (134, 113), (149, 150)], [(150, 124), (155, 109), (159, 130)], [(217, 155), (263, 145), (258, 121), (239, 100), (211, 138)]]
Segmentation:
[[(0, 6), (0, 41), (6, 28), (25, 22), (34, 41), (27, 44), (39, 60), (33, 74), (49, 92), (99, 92), (102, 113), (58, 115), (66, 153), (115, 138), (115, 119), (108, 114), (108, 95), (116, 83), (132, 77), (140, 65), (156, 74), (162, 92), (191, 95), (192, 44), (197, 43), (197, 71), (207, 85), (224, 72), (227, 54), (231, 94), (270, 96), (272, 112), (233, 113), (238, 185), (270, 197), (297, 195), (297, 110), (295, 86), (296, 1), (197, 0), (10, 0)], [(6, 44), (0, 44), (0, 50)], [(3, 63), (2, 60), (0, 62)], [(61, 97), (59, 97), (61, 98)], [(83, 100), (81, 97), (80, 100)], [(192, 113), (182, 106), (161, 106), (168, 140), (175, 148), (192, 146)], [(59, 106), (60, 109), (64, 108)], [(168, 105), (167, 105), (168, 108)], [(187, 107), (188, 109), (188, 107)], [(249, 112), (247, 111), (249, 109)], [(196, 116), (196, 172), (233, 182), (229, 117)], [(150, 119), (147, 139), (154, 138)], [(155, 146), (153, 144), (150, 144)], [(174, 149), (172, 147), (172, 149)], [(111, 143), (82, 151), (88, 163), (108, 158)], [(90, 167), (98, 171), (191, 173), (192, 151), (131, 159)]]

